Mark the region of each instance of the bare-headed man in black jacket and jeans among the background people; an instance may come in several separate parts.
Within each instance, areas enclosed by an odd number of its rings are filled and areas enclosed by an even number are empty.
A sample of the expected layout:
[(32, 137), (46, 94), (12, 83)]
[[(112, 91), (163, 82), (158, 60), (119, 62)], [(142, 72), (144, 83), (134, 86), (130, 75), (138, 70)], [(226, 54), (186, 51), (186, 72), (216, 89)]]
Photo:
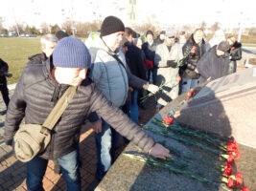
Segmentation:
[(181, 93), (188, 92), (198, 85), (197, 64), (201, 56), (206, 52), (203, 31), (197, 29), (182, 47), (183, 55), (186, 57), (184, 66), (180, 69), (182, 77)]

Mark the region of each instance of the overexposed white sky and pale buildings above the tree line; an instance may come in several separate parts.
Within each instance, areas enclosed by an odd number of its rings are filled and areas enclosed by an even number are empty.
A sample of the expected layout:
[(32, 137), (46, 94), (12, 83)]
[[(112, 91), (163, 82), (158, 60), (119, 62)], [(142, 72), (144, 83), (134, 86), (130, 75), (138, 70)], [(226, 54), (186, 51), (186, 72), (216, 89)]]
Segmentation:
[[(17, 22), (30, 25), (39, 26), (41, 22), (59, 25), (66, 17), (85, 22), (97, 16), (103, 19), (106, 15), (122, 13), (117, 8), (125, 8), (127, 2), (97, 0), (96, 5), (92, 0), (0, 0), (0, 16), (5, 19), (6, 27), (14, 24), (14, 17)], [(170, 25), (205, 21), (221, 22), (226, 28), (239, 27), (240, 22), (245, 27), (256, 26), (255, 0), (137, 0), (137, 3), (138, 23), (148, 19)]]

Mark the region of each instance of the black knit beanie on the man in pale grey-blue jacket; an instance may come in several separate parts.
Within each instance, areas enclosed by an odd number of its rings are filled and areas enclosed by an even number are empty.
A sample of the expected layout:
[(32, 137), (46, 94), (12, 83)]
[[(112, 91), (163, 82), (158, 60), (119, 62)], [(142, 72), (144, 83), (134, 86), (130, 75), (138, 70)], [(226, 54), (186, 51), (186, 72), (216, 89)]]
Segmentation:
[(115, 32), (125, 32), (124, 23), (115, 16), (107, 16), (102, 24), (101, 36)]

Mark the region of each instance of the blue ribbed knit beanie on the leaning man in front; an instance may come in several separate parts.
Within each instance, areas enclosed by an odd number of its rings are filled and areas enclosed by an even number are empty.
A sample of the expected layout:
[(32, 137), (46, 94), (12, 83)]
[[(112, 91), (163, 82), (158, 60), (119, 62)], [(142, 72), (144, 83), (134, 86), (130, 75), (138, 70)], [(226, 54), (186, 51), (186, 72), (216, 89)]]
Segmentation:
[(91, 55), (80, 39), (64, 37), (54, 50), (53, 64), (62, 68), (89, 68)]

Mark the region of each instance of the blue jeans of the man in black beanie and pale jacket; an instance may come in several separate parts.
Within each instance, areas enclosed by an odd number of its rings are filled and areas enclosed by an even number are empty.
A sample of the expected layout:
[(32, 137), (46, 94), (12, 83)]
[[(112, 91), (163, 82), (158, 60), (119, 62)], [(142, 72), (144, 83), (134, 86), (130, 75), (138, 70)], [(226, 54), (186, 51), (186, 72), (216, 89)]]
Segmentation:
[(102, 118), (102, 132), (95, 133), (97, 148), (97, 179), (102, 180), (105, 173), (110, 168), (114, 150), (117, 145), (120, 135)]

